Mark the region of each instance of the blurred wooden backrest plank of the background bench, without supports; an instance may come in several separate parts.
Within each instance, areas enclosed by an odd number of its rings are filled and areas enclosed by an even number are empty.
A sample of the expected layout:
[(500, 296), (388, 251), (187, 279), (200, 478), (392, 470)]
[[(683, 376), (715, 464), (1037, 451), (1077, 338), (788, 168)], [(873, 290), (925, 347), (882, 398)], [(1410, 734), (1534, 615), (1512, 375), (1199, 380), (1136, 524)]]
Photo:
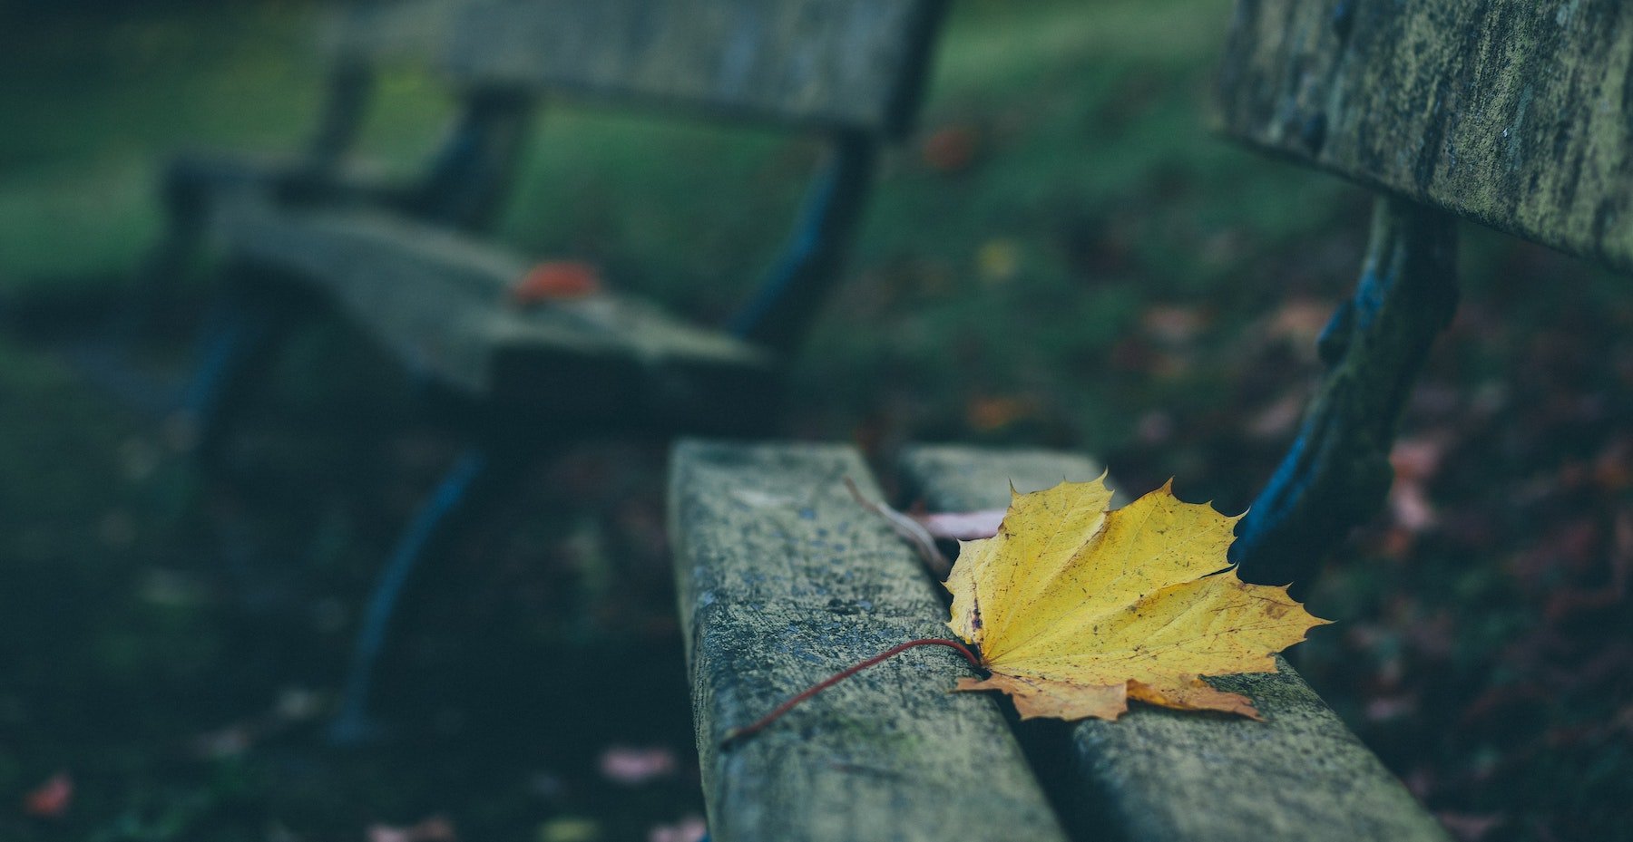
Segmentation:
[(447, 64), (487, 85), (898, 131), (944, 0), (487, 0)]

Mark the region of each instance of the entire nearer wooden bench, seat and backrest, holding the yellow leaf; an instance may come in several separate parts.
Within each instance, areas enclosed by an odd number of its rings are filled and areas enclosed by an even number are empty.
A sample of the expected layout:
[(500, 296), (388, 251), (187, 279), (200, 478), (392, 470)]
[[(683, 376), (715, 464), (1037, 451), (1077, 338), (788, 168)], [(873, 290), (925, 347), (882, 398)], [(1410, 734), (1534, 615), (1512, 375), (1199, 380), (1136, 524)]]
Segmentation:
[[(1633, 269), (1630, 67), (1633, 7), (1620, 0), (1239, 0), (1223, 131), (1380, 193), (1355, 295), (1319, 341), (1328, 372), (1238, 527), (1243, 578), (1303, 581), (1382, 504), (1401, 406), (1455, 307), (1458, 217)], [(919, 449), (900, 473), (932, 511), (972, 511), (1003, 504), (1006, 480), (1040, 488), (1099, 467)], [(946, 695), (967, 667), (932, 651), (720, 751), (732, 728), (813, 680), (944, 633), (936, 586), (843, 476), (879, 494), (843, 447), (674, 454), (676, 576), (715, 840), (1445, 837), (1285, 663), (1217, 679), (1259, 700), (1267, 723), (1138, 708), (1052, 736), (1011, 729), (1003, 703)], [(1066, 770), (1052, 760), (1061, 751), (1076, 760)]]

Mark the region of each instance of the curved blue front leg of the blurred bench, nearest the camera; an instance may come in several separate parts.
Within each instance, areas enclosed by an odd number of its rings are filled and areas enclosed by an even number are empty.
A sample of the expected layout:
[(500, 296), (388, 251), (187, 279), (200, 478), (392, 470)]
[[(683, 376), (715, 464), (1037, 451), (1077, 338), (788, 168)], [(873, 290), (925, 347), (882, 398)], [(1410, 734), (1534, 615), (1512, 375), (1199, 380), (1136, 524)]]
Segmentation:
[(330, 723), (330, 742), (358, 744), (377, 733), (377, 725), (369, 715), (371, 694), (380, 654), (385, 651), (392, 630), (392, 618), (410, 576), (425, 556), (446, 548), (449, 535), (457, 530), (465, 516), (478, 511), (483, 501), (508, 490), (529, 462), (527, 459), (513, 459), (509, 452), (501, 457), (485, 447), (472, 447), (459, 457), (420, 507), (369, 594), (369, 604), (351, 653), (351, 669), (346, 674), (340, 713)]

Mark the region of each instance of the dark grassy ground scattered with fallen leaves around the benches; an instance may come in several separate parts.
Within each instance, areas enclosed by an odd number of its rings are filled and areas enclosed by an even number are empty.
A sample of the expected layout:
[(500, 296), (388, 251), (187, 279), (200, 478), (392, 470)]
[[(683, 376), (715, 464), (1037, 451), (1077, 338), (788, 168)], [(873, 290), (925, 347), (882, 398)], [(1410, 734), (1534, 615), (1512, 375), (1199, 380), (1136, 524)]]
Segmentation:
[[(312, 11), (0, 28), (0, 297), (118, 294), (158, 227), (165, 150), (292, 148), (320, 82)], [(905, 441), (1079, 447), (1132, 490), (1174, 475), (1186, 498), (1244, 506), (1297, 421), (1367, 197), (1207, 134), (1226, 15), (959, 5), (787, 432), (880, 459)], [(392, 77), (364, 152), (410, 171), (444, 116), (426, 80)], [(937, 135), (970, 162), (928, 153)], [(501, 237), (720, 317), (812, 155), (552, 108)], [(1313, 609), (1339, 623), (1302, 667), (1460, 837), (1613, 839), (1633, 795), (1633, 299), (1484, 232), (1463, 264), (1403, 480), (1323, 574)], [(173, 424), (24, 338), (52, 325), (24, 326), (0, 338), (0, 837), (359, 839), (441, 814), (464, 839), (616, 840), (697, 811), (660, 452), (573, 452), (474, 530), (385, 689), (418, 736), (335, 752), (322, 711), (354, 605), (451, 444), (325, 326), (237, 444), (255, 481), (206, 483)], [(619, 746), (679, 772), (609, 778)], [(60, 818), (7, 806), (57, 772), (75, 791)]]

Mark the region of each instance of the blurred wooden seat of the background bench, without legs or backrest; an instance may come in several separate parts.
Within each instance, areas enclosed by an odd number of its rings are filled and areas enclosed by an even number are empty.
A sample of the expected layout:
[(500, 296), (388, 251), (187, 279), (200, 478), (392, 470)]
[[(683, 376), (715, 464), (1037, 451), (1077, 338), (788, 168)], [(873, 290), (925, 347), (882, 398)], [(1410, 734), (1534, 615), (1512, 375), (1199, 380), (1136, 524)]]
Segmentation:
[(758, 349), (625, 295), (516, 307), (529, 264), (443, 228), (260, 202), (220, 219), (235, 256), (323, 290), (410, 369), (483, 403), (565, 424), (741, 429), (772, 401)]

